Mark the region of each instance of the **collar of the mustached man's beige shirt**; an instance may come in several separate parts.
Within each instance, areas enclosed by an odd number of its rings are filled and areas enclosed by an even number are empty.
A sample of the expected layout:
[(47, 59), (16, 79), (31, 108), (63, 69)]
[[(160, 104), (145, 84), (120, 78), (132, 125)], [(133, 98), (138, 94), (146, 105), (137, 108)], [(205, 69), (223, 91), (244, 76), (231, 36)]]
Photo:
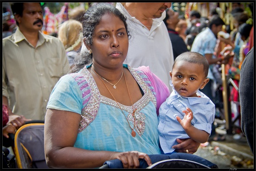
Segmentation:
[[(18, 27), (16, 29), (16, 32), (13, 34), (13, 39), (14, 39), (14, 43), (19, 43), (22, 40), (26, 40), (28, 42), (28, 40), (26, 39), (26, 37), (22, 34), (22, 32), (20, 32), (20, 28)], [(44, 33), (39, 31), (39, 40), (38, 42), (41, 42), (41, 44), (44, 42), (44, 40), (46, 42), (50, 41), (50, 43), (52, 43), (52, 37), (45, 35)]]

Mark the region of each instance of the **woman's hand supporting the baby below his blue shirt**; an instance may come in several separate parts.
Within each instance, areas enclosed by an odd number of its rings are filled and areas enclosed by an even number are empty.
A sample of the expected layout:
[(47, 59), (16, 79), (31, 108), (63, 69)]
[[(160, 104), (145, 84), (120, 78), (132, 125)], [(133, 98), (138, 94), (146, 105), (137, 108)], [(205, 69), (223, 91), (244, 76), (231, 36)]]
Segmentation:
[(198, 143), (190, 138), (189, 139), (176, 139), (176, 141), (179, 144), (172, 146), (172, 148), (174, 148), (176, 152), (193, 154), (197, 151), (198, 147), (200, 146), (200, 143)]

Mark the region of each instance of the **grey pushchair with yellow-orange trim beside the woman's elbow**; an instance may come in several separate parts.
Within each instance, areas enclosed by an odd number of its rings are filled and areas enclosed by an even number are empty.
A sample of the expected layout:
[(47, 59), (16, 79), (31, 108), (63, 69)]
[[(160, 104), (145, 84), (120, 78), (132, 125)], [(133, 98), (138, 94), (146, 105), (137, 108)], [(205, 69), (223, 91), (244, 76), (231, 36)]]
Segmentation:
[(18, 168), (48, 168), (44, 156), (44, 123), (27, 123), (14, 137)]

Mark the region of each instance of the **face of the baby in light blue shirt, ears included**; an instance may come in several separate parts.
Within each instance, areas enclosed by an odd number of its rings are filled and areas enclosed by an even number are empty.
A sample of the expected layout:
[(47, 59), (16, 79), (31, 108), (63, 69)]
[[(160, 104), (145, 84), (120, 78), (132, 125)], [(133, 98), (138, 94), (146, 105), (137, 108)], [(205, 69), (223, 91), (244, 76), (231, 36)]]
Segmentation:
[(176, 62), (170, 76), (177, 93), (183, 97), (197, 97), (196, 91), (204, 88), (209, 81), (205, 79), (203, 69), (203, 64)]

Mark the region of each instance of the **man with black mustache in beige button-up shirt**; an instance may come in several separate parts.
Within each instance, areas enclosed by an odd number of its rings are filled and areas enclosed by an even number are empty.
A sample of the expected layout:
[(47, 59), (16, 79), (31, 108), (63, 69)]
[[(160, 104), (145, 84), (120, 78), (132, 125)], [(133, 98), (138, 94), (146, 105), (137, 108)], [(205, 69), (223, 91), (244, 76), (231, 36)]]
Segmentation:
[(69, 70), (62, 42), (40, 32), (40, 3), (13, 3), (18, 28), (3, 39), (3, 106), (9, 115), (44, 120), (53, 87)]

